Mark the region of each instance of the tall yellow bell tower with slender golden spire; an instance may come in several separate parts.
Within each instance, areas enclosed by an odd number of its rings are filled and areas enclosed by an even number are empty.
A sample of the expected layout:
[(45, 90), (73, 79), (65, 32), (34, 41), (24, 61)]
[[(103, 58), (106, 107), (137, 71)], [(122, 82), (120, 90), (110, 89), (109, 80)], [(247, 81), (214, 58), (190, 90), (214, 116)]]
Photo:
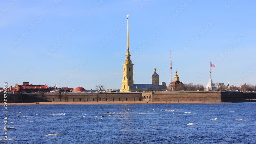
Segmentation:
[(129, 86), (133, 86), (133, 64), (131, 61), (131, 54), (129, 51), (129, 32), (128, 32), (128, 16), (127, 15), (127, 42), (126, 42), (126, 53), (125, 60), (123, 63), (123, 79), (122, 87), (120, 92), (129, 92)]

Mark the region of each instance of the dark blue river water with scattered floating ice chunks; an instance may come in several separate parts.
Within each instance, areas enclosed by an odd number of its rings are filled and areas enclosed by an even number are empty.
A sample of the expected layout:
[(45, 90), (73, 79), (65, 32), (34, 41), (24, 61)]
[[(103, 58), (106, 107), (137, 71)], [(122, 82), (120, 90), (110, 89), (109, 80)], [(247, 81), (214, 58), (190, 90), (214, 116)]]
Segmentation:
[(256, 103), (8, 105), (8, 125), (3, 110), (1, 143), (256, 143)]

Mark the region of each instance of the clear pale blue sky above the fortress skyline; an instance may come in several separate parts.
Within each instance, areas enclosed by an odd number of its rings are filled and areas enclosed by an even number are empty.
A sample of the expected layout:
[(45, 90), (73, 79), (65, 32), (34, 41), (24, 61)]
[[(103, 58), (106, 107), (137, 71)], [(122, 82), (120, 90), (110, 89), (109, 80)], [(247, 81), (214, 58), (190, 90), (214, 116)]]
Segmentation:
[(256, 1), (59, 1), (0, 2), (0, 87), (120, 89), (127, 13), (134, 83), (168, 85), (171, 49), (183, 83), (256, 85)]

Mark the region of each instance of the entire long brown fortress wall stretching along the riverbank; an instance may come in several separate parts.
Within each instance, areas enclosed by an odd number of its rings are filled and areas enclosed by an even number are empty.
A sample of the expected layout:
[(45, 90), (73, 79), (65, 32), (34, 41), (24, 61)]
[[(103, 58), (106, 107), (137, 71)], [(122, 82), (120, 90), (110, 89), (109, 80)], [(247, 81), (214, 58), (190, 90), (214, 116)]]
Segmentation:
[[(65, 93), (63, 93), (65, 94)], [(66, 93), (68, 96), (68, 101), (75, 102), (81, 101), (98, 101), (100, 100), (100, 93)], [(41, 102), (41, 96), (39, 93), (8, 93), (7, 96), (8, 103), (22, 103), (22, 102)], [(145, 98), (144, 98), (145, 97)], [(43, 102), (52, 102), (53, 98), (55, 102), (59, 102), (59, 98), (56, 97), (56, 93), (45, 93), (45, 98)], [(216, 102), (244, 102), (256, 99), (256, 92), (198, 92), (198, 91), (184, 91), (184, 92), (112, 92), (112, 93), (102, 93), (102, 101), (166, 101), (166, 102), (177, 102), (177, 101), (216, 101)], [(4, 93), (0, 93), (0, 100), (4, 102)], [(64, 102), (62, 98), (61, 102)], [(66, 99), (67, 101), (67, 99)]]

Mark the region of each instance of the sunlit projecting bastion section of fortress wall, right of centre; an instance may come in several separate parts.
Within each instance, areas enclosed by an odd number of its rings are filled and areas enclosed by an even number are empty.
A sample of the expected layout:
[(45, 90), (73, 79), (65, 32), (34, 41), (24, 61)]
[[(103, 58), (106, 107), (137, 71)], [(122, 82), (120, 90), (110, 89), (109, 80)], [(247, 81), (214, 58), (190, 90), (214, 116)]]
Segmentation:
[[(144, 98), (144, 96), (146, 98)], [(151, 99), (149, 98), (151, 97)], [(221, 96), (219, 91), (215, 92), (145, 92), (142, 93), (142, 101), (217, 101), (221, 102)]]

